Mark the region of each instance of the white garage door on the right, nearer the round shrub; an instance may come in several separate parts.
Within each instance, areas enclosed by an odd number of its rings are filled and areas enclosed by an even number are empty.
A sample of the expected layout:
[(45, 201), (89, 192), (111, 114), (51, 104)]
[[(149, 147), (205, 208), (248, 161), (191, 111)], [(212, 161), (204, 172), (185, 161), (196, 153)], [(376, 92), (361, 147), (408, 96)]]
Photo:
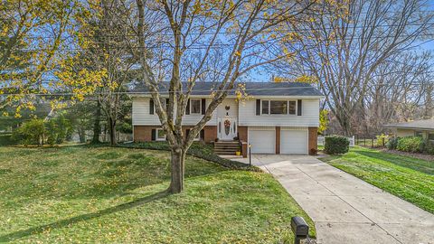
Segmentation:
[(280, 154), (306, 155), (307, 129), (280, 131)]

